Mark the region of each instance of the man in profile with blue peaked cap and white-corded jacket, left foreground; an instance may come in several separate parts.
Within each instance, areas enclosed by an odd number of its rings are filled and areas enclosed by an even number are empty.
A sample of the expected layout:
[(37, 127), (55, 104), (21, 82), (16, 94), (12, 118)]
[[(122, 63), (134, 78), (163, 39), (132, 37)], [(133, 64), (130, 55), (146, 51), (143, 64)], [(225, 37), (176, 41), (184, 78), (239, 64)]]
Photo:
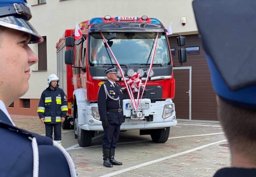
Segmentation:
[(43, 41), (28, 22), (32, 15), (26, 5), (25, 0), (0, 1), (0, 177), (76, 177), (62, 146), (16, 127), (6, 109), (28, 91), (29, 68), (38, 61), (28, 43)]

